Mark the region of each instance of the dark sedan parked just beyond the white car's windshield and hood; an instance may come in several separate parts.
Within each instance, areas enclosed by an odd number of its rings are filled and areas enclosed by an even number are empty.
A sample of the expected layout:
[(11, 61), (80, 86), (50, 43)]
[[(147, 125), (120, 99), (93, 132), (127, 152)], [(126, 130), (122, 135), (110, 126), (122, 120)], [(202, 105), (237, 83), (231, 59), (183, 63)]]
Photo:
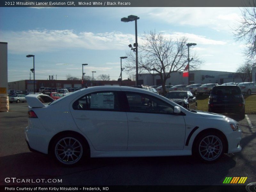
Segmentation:
[(164, 96), (187, 109), (197, 110), (196, 97), (190, 91), (172, 91)]

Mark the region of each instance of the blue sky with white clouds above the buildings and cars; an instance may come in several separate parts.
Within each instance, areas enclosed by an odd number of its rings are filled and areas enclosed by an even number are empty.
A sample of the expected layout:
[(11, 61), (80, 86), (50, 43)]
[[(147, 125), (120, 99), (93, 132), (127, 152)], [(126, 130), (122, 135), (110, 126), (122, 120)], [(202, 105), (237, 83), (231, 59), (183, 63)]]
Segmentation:
[[(156, 30), (173, 39), (188, 37), (197, 45), (190, 50), (204, 60), (201, 70), (235, 72), (244, 62), (244, 43), (236, 42), (233, 29), (241, 19), (238, 7), (0, 7), (0, 42), (8, 43), (8, 82), (29, 79), (35, 55), (36, 79), (64, 80), (67, 75), (109, 75), (117, 80), (120, 57), (145, 32)], [(125, 59), (122, 60), (125, 67)], [(123, 72), (123, 79), (128, 78)], [(31, 79), (33, 74), (31, 73)]]

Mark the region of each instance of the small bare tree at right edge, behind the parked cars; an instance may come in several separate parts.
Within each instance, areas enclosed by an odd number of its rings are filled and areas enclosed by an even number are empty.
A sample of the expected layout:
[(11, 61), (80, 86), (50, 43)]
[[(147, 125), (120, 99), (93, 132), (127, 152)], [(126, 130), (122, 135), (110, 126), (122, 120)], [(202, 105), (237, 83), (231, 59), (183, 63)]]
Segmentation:
[(247, 59), (244, 64), (236, 70), (236, 72), (239, 73), (238, 75), (243, 82), (246, 80), (246, 78), (248, 78), (249, 81), (252, 81), (252, 68), (254, 67), (256, 67), (256, 62)]

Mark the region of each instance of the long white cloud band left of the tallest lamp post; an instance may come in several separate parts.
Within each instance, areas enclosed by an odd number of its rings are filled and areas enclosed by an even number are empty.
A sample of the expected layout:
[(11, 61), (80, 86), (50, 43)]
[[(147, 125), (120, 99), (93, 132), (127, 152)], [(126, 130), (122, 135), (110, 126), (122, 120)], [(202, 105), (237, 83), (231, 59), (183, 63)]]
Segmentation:
[(8, 42), (11, 53), (54, 52), (60, 49), (125, 50), (134, 35), (121, 32), (75, 33), (73, 30), (0, 31), (0, 41)]

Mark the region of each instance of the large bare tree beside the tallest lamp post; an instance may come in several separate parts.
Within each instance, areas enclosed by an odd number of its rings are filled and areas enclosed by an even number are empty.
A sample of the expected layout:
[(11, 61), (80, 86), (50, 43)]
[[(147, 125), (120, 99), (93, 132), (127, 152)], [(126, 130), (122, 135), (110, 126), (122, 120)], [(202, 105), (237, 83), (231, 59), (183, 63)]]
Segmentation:
[[(138, 71), (148, 72), (152, 75), (159, 75), (162, 80), (163, 93), (165, 93), (165, 83), (171, 77), (171, 73), (182, 71), (188, 64), (188, 39), (181, 37), (173, 40), (165, 38), (162, 33), (150, 31), (142, 38), (143, 44), (139, 48)], [(127, 65), (125, 69), (128, 73), (135, 70), (135, 55), (133, 52), (127, 53)], [(196, 69), (202, 64), (202, 60), (196, 54), (192, 55), (190, 69)], [(192, 58), (191, 57), (191, 58)]]

